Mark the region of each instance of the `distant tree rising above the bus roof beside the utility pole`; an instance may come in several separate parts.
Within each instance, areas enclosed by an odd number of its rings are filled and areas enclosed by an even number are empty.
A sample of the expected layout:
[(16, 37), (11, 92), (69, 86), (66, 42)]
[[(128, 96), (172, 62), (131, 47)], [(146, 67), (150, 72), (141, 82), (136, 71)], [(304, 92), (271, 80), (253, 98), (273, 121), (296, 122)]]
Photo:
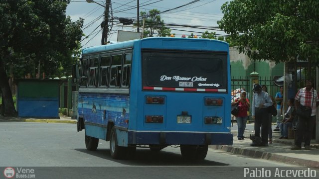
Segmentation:
[[(145, 20), (143, 37), (166, 37), (170, 35), (170, 29), (166, 28), (164, 20), (160, 19), (160, 11), (158, 9), (152, 9), (148, 13), (141, 11), (140, 14), (142, 19)], [(143, 20), (140, 24), (143, 24)]]

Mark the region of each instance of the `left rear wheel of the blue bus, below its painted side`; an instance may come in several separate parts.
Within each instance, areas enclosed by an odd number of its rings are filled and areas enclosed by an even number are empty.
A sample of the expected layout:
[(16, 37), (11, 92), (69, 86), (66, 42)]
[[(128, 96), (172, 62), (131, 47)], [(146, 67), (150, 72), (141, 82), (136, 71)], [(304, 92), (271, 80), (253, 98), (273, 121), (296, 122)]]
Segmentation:
[(113, 159), (121, 159), (125, 152), (125, 147), (118, 146), (118, 138), (116, 136), (116, 130), (114, 127), (110, 133), (110, 154)]

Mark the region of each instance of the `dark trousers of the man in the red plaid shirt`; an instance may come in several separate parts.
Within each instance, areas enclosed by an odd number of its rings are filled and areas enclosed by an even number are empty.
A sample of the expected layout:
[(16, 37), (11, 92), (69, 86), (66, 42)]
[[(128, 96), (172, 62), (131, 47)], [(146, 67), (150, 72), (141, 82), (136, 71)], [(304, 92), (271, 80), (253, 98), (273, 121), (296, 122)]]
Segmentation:
[(298, 117), (298, 125), (296, 130), (295, 145), (301, 147), (301, 143), (305, 138), (305, 146), (310, 146), (310, 140), (315, 126), (316, 115), (309, 118)]

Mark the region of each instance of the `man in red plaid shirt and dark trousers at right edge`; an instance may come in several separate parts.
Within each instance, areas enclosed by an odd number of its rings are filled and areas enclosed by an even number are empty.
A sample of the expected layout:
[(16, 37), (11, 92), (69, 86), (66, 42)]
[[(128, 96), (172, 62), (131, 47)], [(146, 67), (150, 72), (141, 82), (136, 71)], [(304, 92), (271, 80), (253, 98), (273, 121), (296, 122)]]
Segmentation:
[(305, 139), (305, 150), (310, 150), (310, 140), (316, 122), (317, 106), (319, 105), (318, 92), (313, 88), (313, 82), (306, 80), (306, 87), (299, 89), (295, 97), (296, 111), (299, 107), (312, 108), (311, 116), (308, 118), (298, 116), (295, 146), (291, 150), (301, 150), (301, 143)]

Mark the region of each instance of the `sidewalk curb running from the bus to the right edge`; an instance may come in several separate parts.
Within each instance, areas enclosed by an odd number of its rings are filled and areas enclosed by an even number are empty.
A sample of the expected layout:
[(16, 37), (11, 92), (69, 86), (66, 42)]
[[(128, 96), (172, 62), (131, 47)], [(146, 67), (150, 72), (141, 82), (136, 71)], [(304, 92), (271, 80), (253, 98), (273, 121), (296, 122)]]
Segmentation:
[(210, 148), (221, 150), (224, 152), (229, 152), (233, 154), (240, 154), (248, 157), (258, 158), (258, 159), (266, 159), (271, 160), (275, 162), (281, 162), (285, 164), (292, 164), (292, 165), (300, 165), (300, 166), (307, 166), (307, 167), (319, 167), (318, 161), (312, 161), (312, 160), (305, 160), (305, 159), (298, 159), (294, 157), (287, 157), (277, 154), (272, 154), (269, 152), (262, 152), (257, 150), (251, 150), (251, 149), (243, 149), (233, 146), (227, 146), (227, 145), (212, 145)]

